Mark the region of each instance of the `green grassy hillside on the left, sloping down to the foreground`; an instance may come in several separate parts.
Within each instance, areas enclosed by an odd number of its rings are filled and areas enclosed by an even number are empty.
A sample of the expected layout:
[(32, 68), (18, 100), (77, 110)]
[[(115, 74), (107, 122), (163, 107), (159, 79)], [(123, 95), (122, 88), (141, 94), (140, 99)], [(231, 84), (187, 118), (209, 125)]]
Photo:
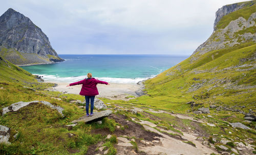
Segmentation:
[[(85, 109), (80, 109), (69, 101), (82, 100), (82, 96), (45, 91), (54, 84), (37, 82), (34, 75), (2, 57), (0, 68), (0, 125), (11, 129), (11, 144), (1, 143), (0, 154), (85, 154), (90, 145), (104, 141), (105, 138), (102, 135), (92, 135), (91, 130), (111, 128), (113, 131), (115, 128), (115, 121), (104, 119), (101, 125), (80, 123), (70, 130), (65, 125), (84, 115)], [(64, 108), (62, 113), (65, 117), (62, 118), (56, 110), (39, 102), (2, 116), (2, 108), (12, 103), (35, 100), (48, 101)], [(112, 142), (105, 142), (108, 144), (107, 148), (110, 148), (109, 154), (116, 151)]]

